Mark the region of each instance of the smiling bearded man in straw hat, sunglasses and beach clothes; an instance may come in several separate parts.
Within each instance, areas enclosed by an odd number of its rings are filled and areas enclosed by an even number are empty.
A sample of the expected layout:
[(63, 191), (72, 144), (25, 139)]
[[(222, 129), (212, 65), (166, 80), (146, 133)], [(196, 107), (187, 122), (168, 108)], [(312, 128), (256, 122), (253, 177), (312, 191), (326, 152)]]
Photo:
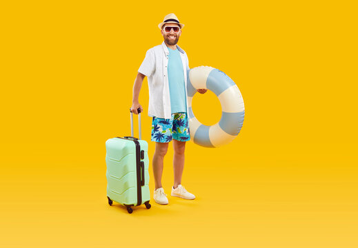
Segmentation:
[[(175, 14), (168, 14), (158, 26), (164, 41), (146, 52), (146, 58), (141, 63), (133, 85), (131, 110), (135, 114), (138, 114), (139, 107), (143, 110), (139, 104), (139, 92), (144, 77), (148, 76), (148, 115), (153, 117), (151, 141), (155, 141), (155, 154), (152, 161), (155, 180), (154, 199), (156, 203), (168, 204), (167, 195), (161, 185), (161, 176), (164, 156), (170, 141), (173, 141), (174, 148), (174, 185), (171, 195), (195, 199), (195, 196), (181, 185), (185, 145), (186, 141), (190, 140), (186, 92), (189, 62), (186, 52), (177, 45), (183, 23), (179, 22)], [(198, 92), (203, 94), (206, 90), (200, 89)]]

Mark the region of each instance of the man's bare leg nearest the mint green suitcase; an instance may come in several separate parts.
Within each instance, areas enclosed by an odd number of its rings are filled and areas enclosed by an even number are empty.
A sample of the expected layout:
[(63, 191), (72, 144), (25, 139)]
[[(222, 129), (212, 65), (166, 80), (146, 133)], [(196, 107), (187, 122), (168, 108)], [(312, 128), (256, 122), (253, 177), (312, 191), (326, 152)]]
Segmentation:
[(153, 174), (155, 181), (155, 189), (159, 189), (161, 186), (161, 175), (163, 174), (164, 156), (168, 151), (168, 143), (155, 143), (155, 152), (153, 156)]

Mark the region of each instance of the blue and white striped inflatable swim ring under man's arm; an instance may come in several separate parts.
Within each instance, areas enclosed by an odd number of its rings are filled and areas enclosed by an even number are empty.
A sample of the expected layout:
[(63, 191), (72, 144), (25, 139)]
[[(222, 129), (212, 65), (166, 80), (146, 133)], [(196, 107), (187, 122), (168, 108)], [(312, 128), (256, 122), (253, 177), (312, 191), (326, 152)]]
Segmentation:
[[(192, 113), (192, 97), (198, 89), (214, 92), (221, 103), (221, 119), (212, 126), (201, 124)], [(239, 87), (225, 73), (209, 66), (192, 68), (188, 73), (188, 109), (190, 138), (203, 147), (219, 147), (239, 134), (245, 107)]]

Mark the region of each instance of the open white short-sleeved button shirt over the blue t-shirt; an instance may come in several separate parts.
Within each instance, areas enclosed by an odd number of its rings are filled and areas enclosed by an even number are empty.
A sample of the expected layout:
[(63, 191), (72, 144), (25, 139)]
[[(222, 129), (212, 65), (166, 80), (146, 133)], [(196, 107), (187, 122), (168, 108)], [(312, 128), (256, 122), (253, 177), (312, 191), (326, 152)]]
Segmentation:
[[(186, 112), (188, 113), (188, 91), (187, 77), (189, 72), (189, 61), (186, 52), (179, 48), (181, 62), (183, 63), (185, 90), (186, 90)], [(146, 52), (138, 72), (148, 76), (148, 90), (149, 90), (149, 104), (148, 116), (155, 116), (159, 118), (170, 118), (172, 110), (170, 106), (170, 93), (168, 81), (168, 60), (169, 50), (166, 43), (161, 43), (154, 48), (150, 48)]]

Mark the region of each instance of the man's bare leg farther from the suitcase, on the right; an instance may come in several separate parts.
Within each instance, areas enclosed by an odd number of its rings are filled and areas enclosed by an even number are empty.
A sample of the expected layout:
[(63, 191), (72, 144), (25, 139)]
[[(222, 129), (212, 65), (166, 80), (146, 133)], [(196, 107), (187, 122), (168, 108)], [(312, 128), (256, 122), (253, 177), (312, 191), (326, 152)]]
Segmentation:
[(184, 152), (186, 149), (185, 141), (176, 141), (172, 140), (174, 148), (174, 157), (173, 157), (173, 171), (174, 171), (174, 188), (177, 188), (181, 184), (181, 176), (183, 175), (184, 170)]

